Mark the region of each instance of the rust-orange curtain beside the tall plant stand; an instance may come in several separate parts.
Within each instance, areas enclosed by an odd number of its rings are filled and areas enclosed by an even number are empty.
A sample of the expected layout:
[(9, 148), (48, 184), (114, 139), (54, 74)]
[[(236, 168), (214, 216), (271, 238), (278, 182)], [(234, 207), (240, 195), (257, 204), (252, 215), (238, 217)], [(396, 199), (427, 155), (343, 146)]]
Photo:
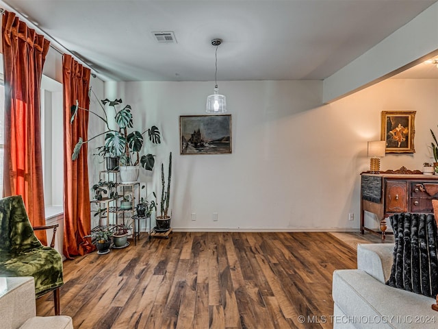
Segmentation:
[(92, 252), (94, 245), (83, 236), (90, 234), (90, 188), (88, 186), (88, 148), (82, 145), (79, 158), (71, 155), (79, 137), (88, 136), (88, 111), (81, 111), (70, 123), (70, 108), (79, 101), (79, 107), (89, 108), (90, 69), (83, 67), (70, 55), (62, 61), (64, 85), (64, 255), (67, 258)]

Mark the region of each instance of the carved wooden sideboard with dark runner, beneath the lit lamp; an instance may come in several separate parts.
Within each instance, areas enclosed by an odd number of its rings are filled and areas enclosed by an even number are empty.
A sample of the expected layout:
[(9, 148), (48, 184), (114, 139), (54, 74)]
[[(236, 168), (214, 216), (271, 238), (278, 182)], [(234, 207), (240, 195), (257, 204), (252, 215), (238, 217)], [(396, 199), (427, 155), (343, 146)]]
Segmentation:
[[(438, 199), (438, 175), (361, 173), (361, 234), (381, 234), (385, 241), (387, 217), (396, 212), (433, 213), (432, 199)], [(365, 210), (376, 214), (380, 228), (365, 228)]]

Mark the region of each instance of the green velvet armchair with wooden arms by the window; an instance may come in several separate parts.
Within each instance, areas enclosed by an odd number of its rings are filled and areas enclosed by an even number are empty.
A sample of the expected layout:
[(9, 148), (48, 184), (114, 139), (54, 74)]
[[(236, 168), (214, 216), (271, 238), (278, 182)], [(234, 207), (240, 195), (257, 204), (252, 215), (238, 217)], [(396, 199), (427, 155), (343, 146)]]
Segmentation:
[[(55, 245), (55, 226), (32, 228), (21, 195), (0, 199), (0, 276), (33, 276), (36, 298), (53, 291), (55, 315), (60, 314), (62, 257)], [(51, 247), (40, 243), (34, 229), (53, 228)]]

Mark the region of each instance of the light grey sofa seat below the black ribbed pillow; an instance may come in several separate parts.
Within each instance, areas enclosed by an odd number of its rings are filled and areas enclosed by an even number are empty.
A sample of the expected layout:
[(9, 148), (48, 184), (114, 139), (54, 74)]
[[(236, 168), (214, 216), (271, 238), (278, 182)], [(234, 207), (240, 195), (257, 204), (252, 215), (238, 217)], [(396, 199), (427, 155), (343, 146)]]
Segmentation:
[(333, 301), (339, 310), (333, 328), (437, 328), (433, 298), (394, 289), (360, 269), (333, 272)]

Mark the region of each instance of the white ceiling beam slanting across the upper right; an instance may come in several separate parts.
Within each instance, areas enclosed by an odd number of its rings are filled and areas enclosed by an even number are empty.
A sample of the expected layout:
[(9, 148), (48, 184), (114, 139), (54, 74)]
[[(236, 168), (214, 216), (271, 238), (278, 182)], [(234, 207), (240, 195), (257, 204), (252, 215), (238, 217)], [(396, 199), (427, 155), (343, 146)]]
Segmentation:
[(438, 3), (326, 78), (322, 101), (332, 103), (433, 56), (438, 50)]

